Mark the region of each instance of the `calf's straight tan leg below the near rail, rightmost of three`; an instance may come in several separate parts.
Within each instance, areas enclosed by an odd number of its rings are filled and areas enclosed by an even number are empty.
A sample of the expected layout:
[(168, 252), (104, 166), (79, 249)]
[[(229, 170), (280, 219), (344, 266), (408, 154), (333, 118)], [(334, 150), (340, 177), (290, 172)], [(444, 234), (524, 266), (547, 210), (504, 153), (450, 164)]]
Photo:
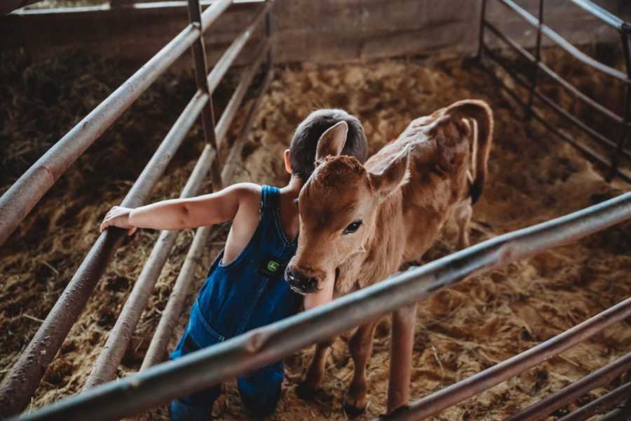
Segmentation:
[(415, 322), (416, 303), (402, 307), (392, 314), (388, 413), (407, 406), (409, 401)]

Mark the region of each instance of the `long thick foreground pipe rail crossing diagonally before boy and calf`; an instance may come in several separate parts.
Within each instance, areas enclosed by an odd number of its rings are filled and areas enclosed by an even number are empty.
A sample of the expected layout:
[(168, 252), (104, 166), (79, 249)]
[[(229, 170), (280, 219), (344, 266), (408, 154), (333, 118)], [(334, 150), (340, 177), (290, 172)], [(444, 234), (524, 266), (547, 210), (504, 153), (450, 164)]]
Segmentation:
[[(339, 335), (366, 320), (423, 300), (466, 276), (562, 246), (631, 219), (631, 192), (484, 241), (422, 267), (395, 274), (326, 305), (251, 330), (244, 335), (168, 361), (130, 377), (90, 389), (22, 417), (22, 420), (93, 421), (133, 415), (170, 399), (187, 396), (250, 370), (278, 361), (315, 342)], [(631, 315), (631, 298), (581, 323), (562, 336), (564, 343), (585, 338), (595, 326), (604, 327)], [(585, 323), (588, 328), (585, 328)], [(116, 402), (112, 405), (111, 402)]]

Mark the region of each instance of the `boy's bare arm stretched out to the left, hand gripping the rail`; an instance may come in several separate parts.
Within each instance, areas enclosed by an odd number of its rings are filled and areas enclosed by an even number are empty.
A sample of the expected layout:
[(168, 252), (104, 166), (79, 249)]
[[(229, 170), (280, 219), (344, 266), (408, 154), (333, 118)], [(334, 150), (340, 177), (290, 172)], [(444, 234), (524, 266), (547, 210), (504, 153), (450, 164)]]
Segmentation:
[(100, 230), (113, 226), (128, 229), (131, 235), (137, 228), (184, 229), (215, 225), (234, 218), (240, 203), (259, 194), (259, 189), (252, 183), (240, 183), (191, 199), (159, 201), (135, 209), (114, 206)]

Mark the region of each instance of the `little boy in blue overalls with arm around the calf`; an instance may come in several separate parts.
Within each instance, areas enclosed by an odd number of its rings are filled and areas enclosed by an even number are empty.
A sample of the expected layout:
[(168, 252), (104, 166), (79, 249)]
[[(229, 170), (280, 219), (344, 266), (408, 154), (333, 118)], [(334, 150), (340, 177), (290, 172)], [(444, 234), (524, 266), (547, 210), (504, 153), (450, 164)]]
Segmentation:
[[(344, 138), (346, 138), (344, 142)], [(342, 154), (362, 163), (367, 140), (358, 119), (341, 109), (320, 109), (298, 126), (285, 150), (289, 184), (278, 187), (240, 183), (191, 199), (160, 201), (140, 208), (114, 206), (101, 224), (128, 229), (183, 229), (232, 220), (226, 246), (210, 267), (184, 335), (171, 359), (273, 323), (330, 299), (332, 291), (306, 296), (304, 302), (284, 279), (285, 266), (296, 252), (299, 229), (297, 198), (314, 170), (316, 146), (344, 145)], [(280, 398), (284, 377), (278, 361), (237, 379), (243, 406), (268, 415)], [(221, 386), (172, 401), (171, 420), (208, 420)]]

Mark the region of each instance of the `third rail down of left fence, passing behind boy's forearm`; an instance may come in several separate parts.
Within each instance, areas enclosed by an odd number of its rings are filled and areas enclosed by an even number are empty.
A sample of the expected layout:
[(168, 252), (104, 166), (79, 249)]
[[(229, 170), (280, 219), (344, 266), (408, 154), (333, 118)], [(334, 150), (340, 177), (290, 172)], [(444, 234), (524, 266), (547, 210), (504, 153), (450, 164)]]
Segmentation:
[[(215, 152), (212, 148), (205, 147), (189, 180), (186, 181), (182, 194), (179, 195), (180, 198), (192, 197), (197, 194), (202, 182), (210, 171), (214, 157)], [(178, 230), (162, 231), (160, 233), (156, 246), (151, 250), (149, 259), (145, 262), (140, 276), (134, 283), (134, 288), (125, 302), (114, 328), (109, 331), (107, 342), (99, 354), (83, 389), (89, 389), (108, 382), (116, 376), (118, 364), (121, 363), (125, 355), (125, 350), (140, 320), (142, 311), (147, 306), (151, 291), (156, 285), (158, 276), (162, 272), (162, 268), (168, 259), (178, 234)]]

